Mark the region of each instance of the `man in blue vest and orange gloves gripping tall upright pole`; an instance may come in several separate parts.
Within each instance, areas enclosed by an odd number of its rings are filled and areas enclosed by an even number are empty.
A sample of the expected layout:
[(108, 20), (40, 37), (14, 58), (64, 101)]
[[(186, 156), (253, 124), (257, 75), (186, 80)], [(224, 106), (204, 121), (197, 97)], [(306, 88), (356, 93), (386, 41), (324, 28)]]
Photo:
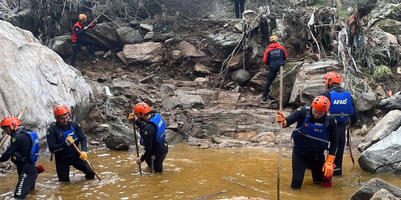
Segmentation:
[[(291, 189), (301, 188), (306, 168), (312, 171), (314, 183), (331, 183), (338, 138), (337, 122), (334, 116), (328, 112), (329, 107), (330, 100), (327, 97), (317, 96), (311, 106), (301, 106), (288, 117), (277, 111), (277, 122), (283, 122), (283, 128), (297, 122), (292, 133), (294, 148), (292, 149)], [(330, 148), (328, 148), (329, 141)], [(328, 154), (325, 161), (324, 151), (327, 149)], [(323, 175), (330, 179), (324, 180)]]

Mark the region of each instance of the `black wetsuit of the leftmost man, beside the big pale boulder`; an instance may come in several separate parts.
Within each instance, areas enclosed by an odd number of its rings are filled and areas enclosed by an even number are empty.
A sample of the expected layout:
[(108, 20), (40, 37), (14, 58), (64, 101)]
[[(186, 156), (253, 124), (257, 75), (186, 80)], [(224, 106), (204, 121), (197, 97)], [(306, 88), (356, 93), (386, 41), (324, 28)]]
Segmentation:
[[(32, 148), (32, 142), (28, 134), (20, 133), (24, 131), (21, 126), (18, 128), (17, 133), (10, 138), (10, 145), (6, 152), (0, 155), (0, 162), (6, 162), (11, 157), (14, 157), (14, 153), (18, 153), (22, 158), (28, 158), (30, 150)], [(11, 158), (11, 161), (17, 165), (18, 172), (18, 183), (15, 188), (14, 198), (25, 199), (29, 190), (35, 189), (35, 181), (38, 177), (38, 169), (35, 163), (32, 163), (30, 159), (24, 159), (24, 161)]]

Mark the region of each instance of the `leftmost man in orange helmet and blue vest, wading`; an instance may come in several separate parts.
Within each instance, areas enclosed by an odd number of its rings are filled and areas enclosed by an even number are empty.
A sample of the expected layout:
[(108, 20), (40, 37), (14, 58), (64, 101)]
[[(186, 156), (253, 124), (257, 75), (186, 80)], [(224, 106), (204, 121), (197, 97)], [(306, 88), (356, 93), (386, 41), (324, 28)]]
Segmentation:
[(11, 136), (6, 152), (0, 155), (0, 162), (6, 162), (12, 157), (11, 162), (16, 164), (19, 177), (14, 198), (25, 199), (29, 191), (35, 189), (38, 178), (38, 169), (35, 166), (39, 156), (38, 135), (22, 126), (15, 116), (3, 118), (0, 127)]

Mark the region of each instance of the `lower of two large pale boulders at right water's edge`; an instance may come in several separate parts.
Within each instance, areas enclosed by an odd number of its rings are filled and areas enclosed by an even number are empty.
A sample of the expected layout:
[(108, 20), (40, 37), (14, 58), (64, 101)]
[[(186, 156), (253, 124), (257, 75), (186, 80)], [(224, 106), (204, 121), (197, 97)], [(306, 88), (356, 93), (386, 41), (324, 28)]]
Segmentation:
[[(365, 171), (373, 172), (377, 167), (401, 160), (401, 128), (392, 132), (389, 136), (380, 140), (376, 144), (367, 148), (358, 158), (360, 168)], [(399, 163), (383, 166), (379, 168), (377, 173), (393, 172), (401, 174)]]

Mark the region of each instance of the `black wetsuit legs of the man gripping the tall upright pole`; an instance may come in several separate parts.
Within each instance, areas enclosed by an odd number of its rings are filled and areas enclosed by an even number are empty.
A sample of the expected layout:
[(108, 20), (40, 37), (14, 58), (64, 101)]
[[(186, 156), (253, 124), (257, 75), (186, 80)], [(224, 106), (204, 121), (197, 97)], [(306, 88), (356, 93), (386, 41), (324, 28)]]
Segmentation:
[(312, 180), (314, 183), (322, 183), (323, 181), (323, 164), (324, 154), (309, 158), (292, 150), (292, 182), (290, 188), (299, 189), (304, 182), (305, 170), (308, 167), (312, 171)]

